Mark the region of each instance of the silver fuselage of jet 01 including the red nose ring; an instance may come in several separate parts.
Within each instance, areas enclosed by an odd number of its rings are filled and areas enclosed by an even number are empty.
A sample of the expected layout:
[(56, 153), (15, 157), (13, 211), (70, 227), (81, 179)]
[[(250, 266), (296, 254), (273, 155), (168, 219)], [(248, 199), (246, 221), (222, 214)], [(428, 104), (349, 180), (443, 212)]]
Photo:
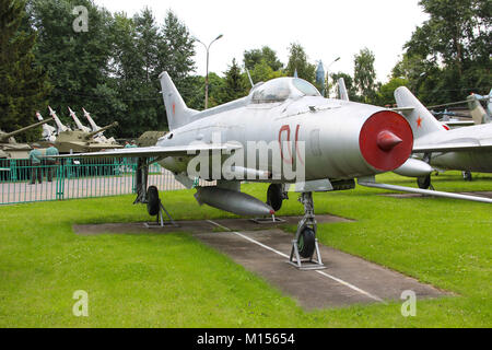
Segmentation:
[[(255, 89), (244, 98), (194, 115), (194, 121), (172, 130), (156, 145), (212, 143), (220, 136), (221, 142), (241, 143), (247, 164), (248, 142), (279, 143), (279, 148), (288, 142), (282, 162), (305, 166), (306, 182), (393, 171), (410, 154), (413, 137), (407, 120), (385, 108), (321, 96), (256, 103), (254, 93)], [(385, 130), (403, 139), (401, 144), (380, 150), (376, 139)], [(189, 160), (168, 156), (160, 163), (177, 174), (186, 173)], [(289, 182), (283, 174), (281, 182)]]

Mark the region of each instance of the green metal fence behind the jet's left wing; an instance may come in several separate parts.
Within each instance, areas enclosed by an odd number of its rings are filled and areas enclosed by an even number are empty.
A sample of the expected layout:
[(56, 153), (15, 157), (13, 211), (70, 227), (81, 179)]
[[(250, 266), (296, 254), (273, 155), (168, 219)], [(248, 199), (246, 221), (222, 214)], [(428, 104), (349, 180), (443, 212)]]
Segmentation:
[[(73, 158), (38, 166), (28, 160), (0, 160), (0, 205), (132, 194), (136, 170), (133, 159)], [(159, 164), (149, 168), (151, 185), (160, 190), (184, 188)]]

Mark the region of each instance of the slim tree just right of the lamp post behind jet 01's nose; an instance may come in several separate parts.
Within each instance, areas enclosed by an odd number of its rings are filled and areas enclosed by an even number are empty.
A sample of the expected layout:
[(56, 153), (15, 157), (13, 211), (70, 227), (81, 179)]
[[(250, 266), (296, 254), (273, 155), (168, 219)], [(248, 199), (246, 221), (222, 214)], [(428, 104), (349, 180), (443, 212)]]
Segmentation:
[(368, 48), (362, 49), (354, 57), (353, 81), (364, 103), (372, 103), (376, 96), (374, 60), (374, 54)]

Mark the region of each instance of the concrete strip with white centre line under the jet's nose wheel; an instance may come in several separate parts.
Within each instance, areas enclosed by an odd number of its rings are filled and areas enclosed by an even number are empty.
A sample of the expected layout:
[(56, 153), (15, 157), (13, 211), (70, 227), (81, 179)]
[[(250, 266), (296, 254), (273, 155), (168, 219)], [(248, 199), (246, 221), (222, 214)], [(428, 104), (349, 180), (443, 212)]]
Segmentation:
[(444, 292), (362, 258), (320, 245), (325, 270), (301, 271), (288, 264), (293, 236), (281, 230), (198, 233), (195, 236), (258, 273), (313, 310), (399, 301), (411, 290), (419, 299)]

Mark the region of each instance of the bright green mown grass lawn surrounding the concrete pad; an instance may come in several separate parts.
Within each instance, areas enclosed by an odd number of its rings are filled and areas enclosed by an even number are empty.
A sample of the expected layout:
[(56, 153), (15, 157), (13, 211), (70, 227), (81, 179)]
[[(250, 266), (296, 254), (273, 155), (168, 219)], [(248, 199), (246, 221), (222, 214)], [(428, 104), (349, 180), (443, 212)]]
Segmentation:
[[(379, 182), (414, 186), (383, 175)], [(492, 175), (434, 177), (438, 190), (492, 190)], [(266, 197), (266, 185), (244, 185)], [(320, 224), (323, 244), (450, 291), (418, 301), (305, 312), (261, 278), (190, 234), (78, 236), (73, 223), (149, 220), (133, 196), (0, 207), (0, 327), (490, 327), (492, 206), (384, 191), (316, 194), (316, 213), (356, 220)], [(232, 214), (199, 207), (192, 190), (162, 194), (175, 219)], [(279, 214), (301, 214), (296, 195)], [(293, 231), (293, 226), (285, 228)], [(77, 290), (89, 317), (72, 315)]]

